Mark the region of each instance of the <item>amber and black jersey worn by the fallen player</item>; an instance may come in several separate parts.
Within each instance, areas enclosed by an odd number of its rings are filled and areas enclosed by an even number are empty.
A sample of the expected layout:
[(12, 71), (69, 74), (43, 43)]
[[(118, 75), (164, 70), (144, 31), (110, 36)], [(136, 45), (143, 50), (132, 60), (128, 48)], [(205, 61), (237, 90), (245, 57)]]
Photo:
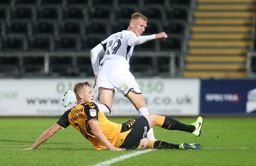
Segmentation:
[(68, 109), (60, 117), (57, 124), (60, 125), (61, 128), (67, 128), (67, 126), (71, 124), (83, 135), (83, 137), (89, 140), (96, 149), (106, 149), (106, 146), (100, 143), (91, 132), (88, 122), (92, 119), (99, 121), (100, 130), (104, 133), (109, 142), (115, 146), (119, 139), (122, 125), (109, 121), (94, 102), (81, 103)]

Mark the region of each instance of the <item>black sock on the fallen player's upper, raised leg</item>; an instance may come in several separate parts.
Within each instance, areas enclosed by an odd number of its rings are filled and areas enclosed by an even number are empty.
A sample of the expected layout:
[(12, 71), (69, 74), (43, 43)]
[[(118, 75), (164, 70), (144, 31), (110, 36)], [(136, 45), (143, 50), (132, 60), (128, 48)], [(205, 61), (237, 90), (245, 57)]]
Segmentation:
[(166, 128), (167, 130), (180, 130), (184, 132), (192, 133), (195, 131), (195, 126), (188, 125), (184, 123), (180, 123), (179, 121), (172, 119), (170, 117), (165, 117), (162, 128)]

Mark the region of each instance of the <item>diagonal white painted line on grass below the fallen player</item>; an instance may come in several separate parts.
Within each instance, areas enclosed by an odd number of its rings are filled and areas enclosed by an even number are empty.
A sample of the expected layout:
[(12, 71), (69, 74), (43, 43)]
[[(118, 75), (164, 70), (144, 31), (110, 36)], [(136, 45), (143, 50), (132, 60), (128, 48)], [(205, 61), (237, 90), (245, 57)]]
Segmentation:
[(123, 155), (123, 156), (118, 156), (116, 158), (112, 158), (111, 160), (107, 160), (105, 162), (100, 162), (100, 163), (97, 163), (95, 164), (94, 166), (106, 166), (106, 165), (110, 165), (112, 163), (116, 163), (116, 162), (120, 162), (122, 160), (125, 160), (127, 158), (131, 158), (131, 157), (134, 157), (134, 156), (138, 156), (138, 155), (141, 155), (143, 153), (148, 153), (150, 151), (154, 151), (154, 149), (145, 149), (145, 150), (140, 150), (140, 151), (136, 151), (134, 153), (130, 153), (128, 155)]

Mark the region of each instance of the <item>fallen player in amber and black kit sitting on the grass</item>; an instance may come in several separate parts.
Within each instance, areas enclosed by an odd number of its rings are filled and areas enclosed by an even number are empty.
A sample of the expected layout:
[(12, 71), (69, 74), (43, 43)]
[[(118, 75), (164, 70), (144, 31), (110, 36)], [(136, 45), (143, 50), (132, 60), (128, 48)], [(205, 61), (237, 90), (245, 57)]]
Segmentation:
[[(98, 103), (93, 102), (94, 94), (88, 82), (79, 82), (74, 86), (78, 105), (68, 109), (58, 120), (36, 140), (33, 146), (25, 149), (36, 149), (61, 128), (74, 126), (93, 146), (111, 151), (125, 149), (202, 149), (198, 143), (171, 144), (161, 140), (145, 138), (153, 126), (160, 126), (167, 130), (180, 130), (200, 136), (202, 133), (203, 119), (198, 117), (191, 125), (180, 123), (170, 117), (149, 114), (139, 116), (123, 124), (109, 121), (104, 113), (99, 110)], [(108, 109), (107, 106), (101, 109)]]

